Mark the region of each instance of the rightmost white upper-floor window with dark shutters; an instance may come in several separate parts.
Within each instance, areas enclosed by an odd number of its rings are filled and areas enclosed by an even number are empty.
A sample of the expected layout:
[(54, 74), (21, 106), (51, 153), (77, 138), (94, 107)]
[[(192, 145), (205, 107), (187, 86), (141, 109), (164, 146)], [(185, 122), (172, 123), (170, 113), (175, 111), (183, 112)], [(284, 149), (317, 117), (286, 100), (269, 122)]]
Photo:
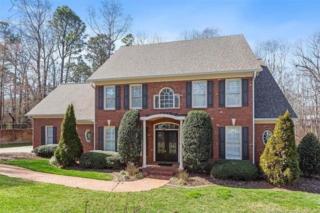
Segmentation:
[(225, 80), (225, 105), (241, 106), (241, 79)]

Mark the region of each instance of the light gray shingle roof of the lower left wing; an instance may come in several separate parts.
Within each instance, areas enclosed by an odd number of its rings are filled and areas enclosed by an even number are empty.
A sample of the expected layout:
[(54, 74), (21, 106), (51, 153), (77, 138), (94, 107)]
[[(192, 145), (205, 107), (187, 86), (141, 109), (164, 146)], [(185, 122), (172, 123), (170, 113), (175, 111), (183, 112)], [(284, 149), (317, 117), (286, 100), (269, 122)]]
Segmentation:
[(93, 120), (93, 95), (90, 83), (60, 84), (25, 115), (64, 115), (68, 104), (72, 103), (76, 120)]

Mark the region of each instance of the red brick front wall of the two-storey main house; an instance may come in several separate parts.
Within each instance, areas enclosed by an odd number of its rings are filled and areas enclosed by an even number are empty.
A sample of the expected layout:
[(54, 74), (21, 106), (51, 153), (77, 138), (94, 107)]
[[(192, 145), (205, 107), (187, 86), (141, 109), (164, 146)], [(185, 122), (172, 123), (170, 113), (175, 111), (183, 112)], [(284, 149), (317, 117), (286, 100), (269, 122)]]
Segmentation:
[[(252, 143), (252, 78), (249, 79), (249, 105), (243, 107), (219, 107), (218, 100), (218, 80), (213, 80), (213, 107), (198, 108), (206, 111), (211, 117), (213, 125), (213, 159), (218, 159), (218, 126), (232, 125), (231, 118), (236, 118), (235, 125), (241, 125), (242, 127), (249, 127), (249, 143)], [(188, 111), (197, 108), (186, 108), (185, 100), (185, 83), (187, 81), (170, 81), (170, 82), (151, 82), (147, 83), (147, 95), (148, 95), (148, 108), (140, 109), (140, 116), (148, 116), (161, 112), (170, 112), (177, 114), (187, 114)], [(110, 126), (119, 126), (120, 121), (124, 113), (128, 109), (123, 109), (124, 106), (124, 85), (120, 84), (120, 109), (116, 110), (103, 110), (98, 109), (98, 86), (95, 87), (95, 114), (96, 114), (96, 127), (107, 126), (107, 120), (110, 119)], [(127, 85), (127, 84), (126, 84)], [(153, 95), (157, 95), (161, 88), (170, 87), (173, 92), (180, 95), (180, 107), (176, 109), (154, 109), (153, 108)], [(104, 100), (103, 100), (104, 103)], [(174, 121), (174, 120), (173, 120)], [(147, 162), (153, 161), (153, 124), (155, 121), (147, 121), (148, 126), (148, 151), (151, 152), (147, 156)], [(158, 120), (157, 122), (162, 122)], [(174, 121), (176, 122), (176, 121)], [(178, 123), (179, 124), (179, 123)], [(97, 128), (95, 129), (96, 135), (98, 134)], [(98, 147), (98, 141), (96, 136), (96, 147)], [(151, 156), (152, 155), (152, 156)], [(252, 146), (249, 145), (249, 160), (252, 160)]]

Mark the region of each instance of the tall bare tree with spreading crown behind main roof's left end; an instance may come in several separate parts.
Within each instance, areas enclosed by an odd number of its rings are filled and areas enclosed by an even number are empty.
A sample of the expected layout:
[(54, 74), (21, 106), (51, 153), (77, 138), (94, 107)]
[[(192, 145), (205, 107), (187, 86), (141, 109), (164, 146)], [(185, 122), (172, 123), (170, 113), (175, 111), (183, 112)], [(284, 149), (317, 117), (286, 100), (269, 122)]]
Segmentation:
[(108, 43), (108, 57), (112, 53), (112, 45), (120, 39), (131, 27), (132, 18), (122, 13), (123, 8), (119, 0), (102, 0), (98, 12), (91, 6), (87, 9), (89, 26), (96, 34), (106, 34)]

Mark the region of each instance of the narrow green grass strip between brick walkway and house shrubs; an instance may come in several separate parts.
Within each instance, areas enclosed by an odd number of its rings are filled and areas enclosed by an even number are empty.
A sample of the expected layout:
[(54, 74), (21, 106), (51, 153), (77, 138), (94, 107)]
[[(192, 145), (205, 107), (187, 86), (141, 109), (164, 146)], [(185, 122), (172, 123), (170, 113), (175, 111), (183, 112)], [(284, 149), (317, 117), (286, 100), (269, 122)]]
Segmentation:
[(58, 168), (49, 163), (49, 159), (21, 159), (21, 160), (10, 160), (1, 162), (9, 165), (16, 165), (23, 168), (31, 169), (33, 171), (40, 171), (44, 173), (51, 174), (61, 174), (66, 176), (75, 176), (75, 177), (85, 177), (92, 179), (102, 179), (102, 180), (111, 180), (113, 176), (105, 172), (96, 172), (96, 171), (79, 171), (71, 169)]

